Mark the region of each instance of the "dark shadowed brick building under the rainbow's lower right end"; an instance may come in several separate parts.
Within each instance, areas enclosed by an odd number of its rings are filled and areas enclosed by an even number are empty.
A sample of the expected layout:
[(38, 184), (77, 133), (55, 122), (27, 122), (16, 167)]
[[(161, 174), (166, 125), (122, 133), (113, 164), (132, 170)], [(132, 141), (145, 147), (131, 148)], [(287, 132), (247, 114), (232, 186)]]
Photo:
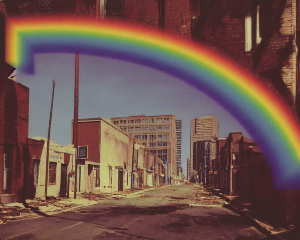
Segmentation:
[(269, 163), (259, 147), (242, 133), (218, 143), (218, 188), (239, 197), (270, 222), (300, 226), (300, 190), (276, 190)]

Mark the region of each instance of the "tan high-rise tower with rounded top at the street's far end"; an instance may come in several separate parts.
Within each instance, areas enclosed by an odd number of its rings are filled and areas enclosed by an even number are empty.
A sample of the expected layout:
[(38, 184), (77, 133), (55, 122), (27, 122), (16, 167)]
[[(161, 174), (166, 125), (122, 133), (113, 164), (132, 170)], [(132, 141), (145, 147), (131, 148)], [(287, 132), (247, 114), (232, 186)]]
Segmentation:
[[(190, 125), (190, 159), (188, 162), (188, 176), (187, 180), (190, 180), (191, 174), (199, 172), (199, 167), (202, 166), (202, 170), (205, 168), (206, 163), (198, 163), (193, 160), (194, 156), (201, 158), (202, 152), (205, 152), (207, 146), (210, 148), (210, 155), (205, 158), (209, 160), (216, 159), (216, 140), (219, 137), (219, 119), (213, 115), (203, 115), (202, 117), (191, 120)], [(201, 143), (200, 143), (201, 142)], [(208, 143), (211, 144), (208, 145)], [(202, 146), (202, 148), (198, 147)], [(207, 152), (207, 151), (206, 151)], [(203, 155), (204, 156), (204, 155)], [(199, 160), (199, 159), (198, 159)], [(202, 161), (203, 159), (199, 160)], [(206, 160), (205, 160), (206, 161)], [(207, 166), (206, 166), (207, 167)], [(195, 172), (196, 171), (196, 172)], [(206, 171), (206, 170), (205, 170)], [(199, 176), (200, 178), (200, 176)]]

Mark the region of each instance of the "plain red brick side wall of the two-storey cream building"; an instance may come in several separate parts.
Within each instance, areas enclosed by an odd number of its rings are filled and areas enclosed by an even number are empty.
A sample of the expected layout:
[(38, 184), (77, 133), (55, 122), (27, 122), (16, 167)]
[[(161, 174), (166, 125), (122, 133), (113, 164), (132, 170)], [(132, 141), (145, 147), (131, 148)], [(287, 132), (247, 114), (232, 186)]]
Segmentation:
[(78, 123), (78, 146), (88, 146), (87, 161), (100, 163), (100, 122)]

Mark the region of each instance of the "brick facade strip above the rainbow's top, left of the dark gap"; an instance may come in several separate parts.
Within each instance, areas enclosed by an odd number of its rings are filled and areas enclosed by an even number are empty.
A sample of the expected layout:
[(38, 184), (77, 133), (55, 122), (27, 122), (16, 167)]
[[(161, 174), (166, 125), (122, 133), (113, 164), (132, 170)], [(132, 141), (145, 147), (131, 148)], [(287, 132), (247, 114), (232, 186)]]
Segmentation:
[(0, 12), (13, 15), (64, 15), (122, 20), (160, 28), (191, 39), (190, 0), (10, 0), (0, 1)]

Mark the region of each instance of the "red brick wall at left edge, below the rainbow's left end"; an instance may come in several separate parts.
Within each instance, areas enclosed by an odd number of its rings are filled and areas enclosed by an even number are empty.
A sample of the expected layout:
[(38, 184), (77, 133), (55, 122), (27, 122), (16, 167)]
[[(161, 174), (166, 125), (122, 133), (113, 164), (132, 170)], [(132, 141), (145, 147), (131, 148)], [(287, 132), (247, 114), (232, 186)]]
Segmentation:
[[(26, 138), (28, 137), (29, 119), (29, 88), (10, 79), (1, 79), (6, 82), (4, 101), (0, 102), (4, 113), (3, 135), (1, 143), (13, 144), (12, 162), (12, 194), (16, 200), (23, 196), (24, 163), (26, 162)], [(3, 94), (3, 93), (2, 93)], [(3, 136), (3, 138), (2, 138)], [(3, 142), (2, 142), (3, 139)], [(1, 147), (0, 164), (3, 166), (3, 147)], [(0, 194), (3, 191), (3, 168), (0, 172)]]

